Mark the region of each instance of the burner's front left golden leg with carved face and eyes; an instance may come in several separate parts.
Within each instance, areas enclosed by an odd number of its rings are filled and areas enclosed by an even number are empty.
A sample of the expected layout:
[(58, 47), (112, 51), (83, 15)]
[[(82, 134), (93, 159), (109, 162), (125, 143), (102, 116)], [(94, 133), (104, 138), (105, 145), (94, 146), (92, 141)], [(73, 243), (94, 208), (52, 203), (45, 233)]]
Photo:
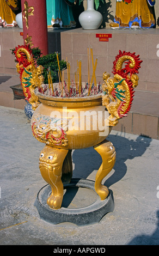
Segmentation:
[(64, 187), (61, 180), (63, 161), (68, 150), (45, 146), (40, 153), (39, 168), (42, 178), (51, 186), (51, 195), (47, 204), (52, 209), (60, 209)]

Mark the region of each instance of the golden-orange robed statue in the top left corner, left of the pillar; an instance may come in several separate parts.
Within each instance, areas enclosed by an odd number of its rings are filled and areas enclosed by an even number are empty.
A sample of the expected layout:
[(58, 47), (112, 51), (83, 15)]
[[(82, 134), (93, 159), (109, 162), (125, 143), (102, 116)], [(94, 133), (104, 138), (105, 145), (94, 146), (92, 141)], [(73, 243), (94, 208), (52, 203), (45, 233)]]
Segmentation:
[(15, 27), (15, 13), (17, 4), (14, 0), (1, 0), (0, 1), (0, 27)]

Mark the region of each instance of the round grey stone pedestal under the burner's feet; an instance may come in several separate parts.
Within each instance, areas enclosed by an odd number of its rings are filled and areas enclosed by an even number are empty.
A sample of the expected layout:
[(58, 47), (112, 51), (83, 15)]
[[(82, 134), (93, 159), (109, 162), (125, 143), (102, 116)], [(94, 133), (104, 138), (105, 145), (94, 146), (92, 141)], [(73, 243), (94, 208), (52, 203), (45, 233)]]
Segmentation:
[(98, 223), (114, 210), (114, 202), (110, 193), (105, 200), (101, 200), (94, 185), (91, 180), (72, 179), (70, 184), (64, 185), (63, 203), (58, 210), (49, 208), (46, 203), (51, 193), (50, 185), (42, 187), (34, 204), (41, 220), (51, 224), (70, 222), (78, 226)]

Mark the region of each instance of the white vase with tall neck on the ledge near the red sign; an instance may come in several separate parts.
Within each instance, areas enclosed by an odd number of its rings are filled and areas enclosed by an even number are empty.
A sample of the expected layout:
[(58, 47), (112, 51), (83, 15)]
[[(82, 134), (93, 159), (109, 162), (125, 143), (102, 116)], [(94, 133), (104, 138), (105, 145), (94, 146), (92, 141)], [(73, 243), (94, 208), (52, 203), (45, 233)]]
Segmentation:
[(87, 0), (87, 10), (79, 15), (79, 23), (83, 29), (98, 29), (102, 23), (102, 15), (94, 9), (94, 0)]

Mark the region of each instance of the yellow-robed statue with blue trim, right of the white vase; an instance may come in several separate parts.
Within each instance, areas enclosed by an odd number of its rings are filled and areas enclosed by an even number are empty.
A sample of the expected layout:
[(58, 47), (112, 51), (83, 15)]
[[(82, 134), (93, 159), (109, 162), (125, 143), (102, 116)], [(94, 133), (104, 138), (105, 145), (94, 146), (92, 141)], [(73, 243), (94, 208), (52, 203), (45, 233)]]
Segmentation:
[(155, 27), (155, 0), (117, 0), (114, 22), (111, 28)]

